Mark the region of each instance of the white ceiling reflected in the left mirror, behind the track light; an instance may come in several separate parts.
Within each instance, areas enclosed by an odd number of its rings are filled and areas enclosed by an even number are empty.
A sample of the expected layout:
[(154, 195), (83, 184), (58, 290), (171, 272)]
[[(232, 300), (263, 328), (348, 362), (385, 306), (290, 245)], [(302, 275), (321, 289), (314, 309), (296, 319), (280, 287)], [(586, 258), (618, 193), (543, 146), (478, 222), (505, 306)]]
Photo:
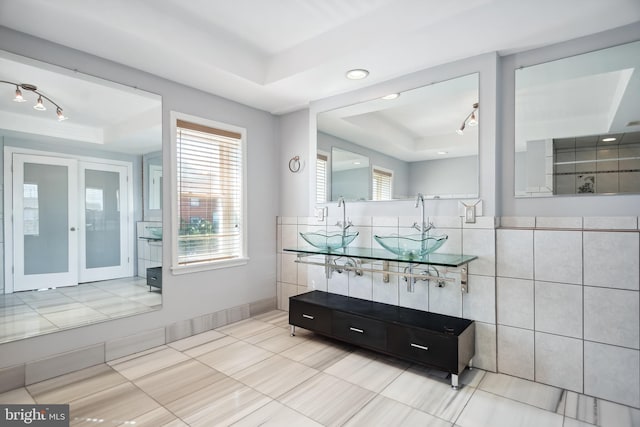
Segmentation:
[[(15, 87), (0, 84), (0, 135), (59, 138), (56, 145), (145, 154), (162, 147), (162, 103), (158, 95), (103, 79), (0, 52), (0, 80), (29, 83), (58, 104), (69, 120), (59, 122), (56, 107), (33, 109), (37, 95), (22, 89), (25, 102), (13, 102)], [(79, 145), (78, 145), (79, 144)]]

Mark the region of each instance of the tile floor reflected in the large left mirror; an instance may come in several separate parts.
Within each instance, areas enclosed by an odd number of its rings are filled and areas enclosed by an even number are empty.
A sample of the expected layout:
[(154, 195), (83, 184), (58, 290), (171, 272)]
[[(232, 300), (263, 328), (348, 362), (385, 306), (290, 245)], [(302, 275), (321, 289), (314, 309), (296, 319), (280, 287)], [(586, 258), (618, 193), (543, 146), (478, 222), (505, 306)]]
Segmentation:
[(140, 277), (0, 294), (0, 343), (144, 313), (161, 303), (162, 294), (150, 292)]

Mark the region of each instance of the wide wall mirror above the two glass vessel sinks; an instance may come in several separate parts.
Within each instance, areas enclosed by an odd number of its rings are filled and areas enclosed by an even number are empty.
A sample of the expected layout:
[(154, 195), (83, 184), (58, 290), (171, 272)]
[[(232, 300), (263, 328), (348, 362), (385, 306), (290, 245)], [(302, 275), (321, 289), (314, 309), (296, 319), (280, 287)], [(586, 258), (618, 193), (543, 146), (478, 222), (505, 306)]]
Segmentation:
[(478, 195), (479, 75), (318, 114), (317, 202)]

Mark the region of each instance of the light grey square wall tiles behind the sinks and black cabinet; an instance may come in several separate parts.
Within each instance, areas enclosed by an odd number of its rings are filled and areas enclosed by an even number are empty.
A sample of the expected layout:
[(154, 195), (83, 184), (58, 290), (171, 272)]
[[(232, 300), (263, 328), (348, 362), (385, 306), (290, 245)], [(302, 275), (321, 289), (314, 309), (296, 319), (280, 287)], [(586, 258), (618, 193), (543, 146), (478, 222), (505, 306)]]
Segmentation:
[[(355, 246), (374, 234), (408, 232), (414, 217), (352, 218)], [(640, 231), (638, 217), (432, 217), (449, 236), (438, 251), (476, 255), (469, 293), (459, 284), (399, 276), (333, 273), (295, 263), (283, 248), (306, 246), (299, 232), (337, 218), (277, 219), (278, 307), (313, 289), (473, 319), (474, 364), (597, 398), (640, 407)], [(324, 257), (306, 260), (324, 262)], [(376, 262), (368, 265), (380, 268)], [(390, 268), (403, 266), (391, 263)], [(614, 363), (615, 361), (615, 363)]]

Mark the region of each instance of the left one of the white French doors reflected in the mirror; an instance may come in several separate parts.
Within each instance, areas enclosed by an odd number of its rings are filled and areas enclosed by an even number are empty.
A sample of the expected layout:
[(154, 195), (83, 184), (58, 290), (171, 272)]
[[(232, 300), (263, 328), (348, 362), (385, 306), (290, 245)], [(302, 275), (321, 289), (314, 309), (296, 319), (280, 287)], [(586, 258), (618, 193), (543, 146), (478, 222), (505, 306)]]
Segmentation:
[(14, 153), (14, 291), (78, 284), (77, 167), (72, 159)]

